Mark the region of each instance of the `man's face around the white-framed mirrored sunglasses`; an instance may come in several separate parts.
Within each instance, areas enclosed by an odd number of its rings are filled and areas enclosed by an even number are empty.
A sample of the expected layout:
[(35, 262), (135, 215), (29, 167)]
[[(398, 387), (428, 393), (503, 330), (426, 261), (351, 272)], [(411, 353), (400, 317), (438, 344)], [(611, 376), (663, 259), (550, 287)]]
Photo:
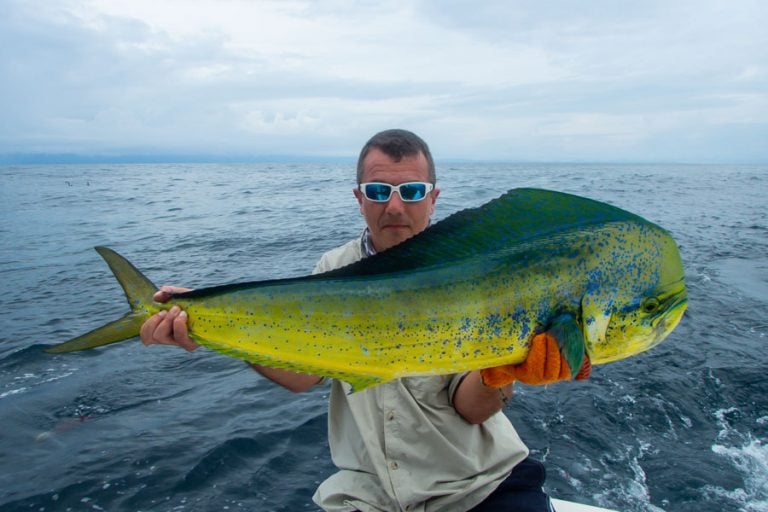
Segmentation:
[[(429, 165), (422, 153), (395, 162), (378, 148), (373, 148), (363, 160), (362, 182), (399, 185), (409, 181), (429, 181)], [(386, 251), (400, 242), (426, 229), (435, 211), (435, 201), (440, 191), (435, 188), (421, 201), (405, 203), (397, 192), (389, 201), (369, 201), (355, 188), (360, 212), (371, 232), (371, 240), (377, 252)]]

